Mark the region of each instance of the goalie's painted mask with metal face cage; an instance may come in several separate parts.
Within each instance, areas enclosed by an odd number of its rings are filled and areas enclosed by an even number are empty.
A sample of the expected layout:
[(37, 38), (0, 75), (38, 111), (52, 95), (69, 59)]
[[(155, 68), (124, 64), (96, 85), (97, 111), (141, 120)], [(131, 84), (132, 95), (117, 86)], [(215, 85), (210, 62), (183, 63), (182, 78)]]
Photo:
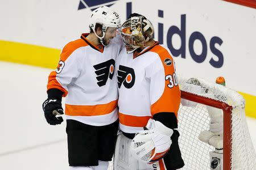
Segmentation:
[(139, 14), (126, 20), (120, 30), (128, 54), (137, 48), (145, 47), (146, 42), (152, 39), (153, 33), (154, 27), (150, 21)]

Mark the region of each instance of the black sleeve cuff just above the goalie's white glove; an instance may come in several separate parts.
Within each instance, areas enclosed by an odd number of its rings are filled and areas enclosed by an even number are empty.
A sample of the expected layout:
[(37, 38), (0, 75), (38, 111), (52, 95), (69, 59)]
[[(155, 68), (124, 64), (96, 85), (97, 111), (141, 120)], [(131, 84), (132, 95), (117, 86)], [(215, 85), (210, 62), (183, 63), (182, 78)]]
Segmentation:
[(164, 126), (170, 129), (177, 128), (177, 118), (174, 113), (172, 112), (160, 112), (156, 113), (153, 116), (155, 121), (161, 122)]

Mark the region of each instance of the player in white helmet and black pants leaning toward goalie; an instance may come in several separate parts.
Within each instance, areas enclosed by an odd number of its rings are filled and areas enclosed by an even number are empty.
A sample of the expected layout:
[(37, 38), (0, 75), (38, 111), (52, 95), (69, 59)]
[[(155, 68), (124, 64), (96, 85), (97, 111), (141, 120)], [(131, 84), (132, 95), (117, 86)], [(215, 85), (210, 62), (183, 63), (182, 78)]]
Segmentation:
[(63, 122), (65, 99), (69, 169), (108, 169), (118, 130), (118, 91), (115, 58), (121, 50), (116, 37), (120, 19), (101, 6), (92, 12), (90, 33), (69, 42), (60, 54), (57, 69), (49, 75), (48, 99), (43, 103), (48, 124)]

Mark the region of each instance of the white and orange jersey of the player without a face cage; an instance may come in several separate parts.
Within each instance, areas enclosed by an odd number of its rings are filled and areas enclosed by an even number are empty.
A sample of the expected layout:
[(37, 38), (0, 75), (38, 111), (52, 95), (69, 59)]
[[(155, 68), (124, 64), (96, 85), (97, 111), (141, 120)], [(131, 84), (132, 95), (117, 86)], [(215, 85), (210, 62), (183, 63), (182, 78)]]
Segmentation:
[(118, 118), (114, 67), (122, 40), (117, 36), (108, 46), (94, 46), (87, 35), (65, 45), (57, 69), (49, 75), (47, 89), (57, 88), (67, 96), (67, 119), (94, 126), (112, 124)]

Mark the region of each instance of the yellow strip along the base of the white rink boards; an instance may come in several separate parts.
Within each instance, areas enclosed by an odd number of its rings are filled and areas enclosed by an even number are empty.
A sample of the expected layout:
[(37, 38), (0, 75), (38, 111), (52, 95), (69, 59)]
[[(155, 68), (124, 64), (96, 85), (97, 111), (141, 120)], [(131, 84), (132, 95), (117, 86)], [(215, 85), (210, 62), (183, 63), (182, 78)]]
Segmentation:
[[(55, 69), (59, 61), (60, 49), (0, 40), (0, 61), (23, 63), (26, 65)], [(245, 98), (246, 116), (256, 118), (256, 96), (240, 92)]]

